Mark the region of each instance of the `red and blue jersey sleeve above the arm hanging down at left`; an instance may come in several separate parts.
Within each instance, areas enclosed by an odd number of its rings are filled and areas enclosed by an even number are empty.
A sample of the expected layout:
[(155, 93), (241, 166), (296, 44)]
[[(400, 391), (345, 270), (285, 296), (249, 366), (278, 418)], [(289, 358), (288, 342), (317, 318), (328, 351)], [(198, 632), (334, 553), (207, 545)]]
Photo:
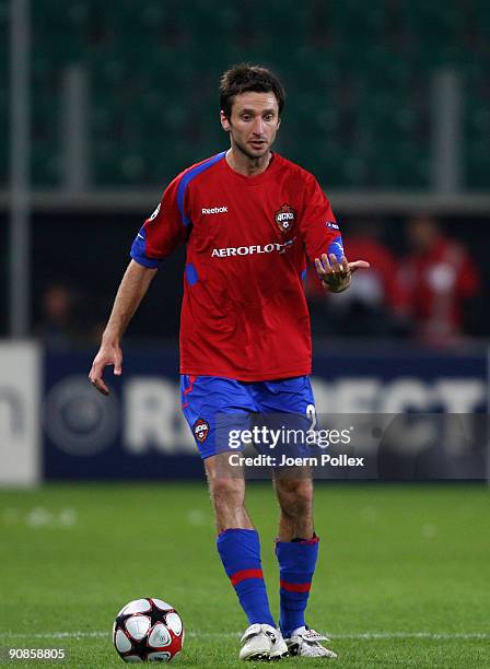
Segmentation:
[(160, 204), (144, 221), (132, 243), (130, 256), (143, 267), (156, 269), (166, 256), (187, 239), (189, 226), (180, 201), (180, 179), (182, 175), (168, 185)]

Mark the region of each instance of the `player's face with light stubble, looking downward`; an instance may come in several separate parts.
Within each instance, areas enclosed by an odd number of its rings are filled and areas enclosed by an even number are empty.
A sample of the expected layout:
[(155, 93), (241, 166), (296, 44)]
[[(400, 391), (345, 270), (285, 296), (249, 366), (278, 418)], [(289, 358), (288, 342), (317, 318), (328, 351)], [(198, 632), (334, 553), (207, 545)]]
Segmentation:
[(273, 93), (241, 93), (233, 99), (231, 118), (221, 111), (221, 125), (230, 132), (232, 146), (252, 160), (267, 155), (280, 122)]

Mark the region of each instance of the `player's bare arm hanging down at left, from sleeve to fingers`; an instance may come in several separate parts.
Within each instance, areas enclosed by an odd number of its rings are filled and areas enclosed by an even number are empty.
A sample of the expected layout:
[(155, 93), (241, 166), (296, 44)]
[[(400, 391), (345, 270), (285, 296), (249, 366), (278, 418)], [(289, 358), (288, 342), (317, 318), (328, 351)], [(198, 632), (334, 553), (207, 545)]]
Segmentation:
[(101, 348), (89, 374), (92, 385), (103, 395), (109, 394), (103, 379), (105, 367), (114, 365), (116, 376), (122, 373), (122, 351), (119, 342), (156, 271), (156, 269), (149, 269), (131, 260), (122, 277), (110, 317), (102, 336)]

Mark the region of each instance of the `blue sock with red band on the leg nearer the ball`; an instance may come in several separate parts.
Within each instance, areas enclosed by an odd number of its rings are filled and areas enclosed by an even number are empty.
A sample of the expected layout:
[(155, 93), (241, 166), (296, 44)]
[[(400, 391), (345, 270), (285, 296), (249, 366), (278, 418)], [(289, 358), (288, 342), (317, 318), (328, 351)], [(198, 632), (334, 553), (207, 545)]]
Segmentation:
[(276, 626), (270, 613), (256, 530), (228, 529), (218, 537), (218, 552), (249, 624)]

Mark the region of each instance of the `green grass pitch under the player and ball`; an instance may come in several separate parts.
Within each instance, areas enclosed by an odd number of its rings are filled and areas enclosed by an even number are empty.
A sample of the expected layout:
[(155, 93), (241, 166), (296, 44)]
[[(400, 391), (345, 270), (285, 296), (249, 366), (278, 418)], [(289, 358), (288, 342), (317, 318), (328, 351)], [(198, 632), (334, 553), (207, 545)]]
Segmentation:
[[(277, 617), (270, 486), (250, 483), (247, 505)], [(490, 666), (487, 489), (318, 484), (315, 508), (320, 553), (308, 622), (330, 634), (337, 667)], [(0, 491), (0, 646), (63, 647), (69, 667), (122, 667), (114, 617), (154, 596), (186, 626), (173, 666), (242, 666), (246, 621), (218, 559), (203, 483)]]

